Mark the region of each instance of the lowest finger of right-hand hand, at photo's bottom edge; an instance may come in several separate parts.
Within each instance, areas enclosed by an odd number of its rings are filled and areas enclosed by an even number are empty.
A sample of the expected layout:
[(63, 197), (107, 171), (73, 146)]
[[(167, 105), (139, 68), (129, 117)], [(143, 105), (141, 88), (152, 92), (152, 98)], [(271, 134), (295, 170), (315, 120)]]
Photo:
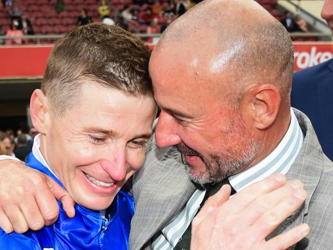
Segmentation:
[(263, 243), (262, 249), (282, 250), (295, 245), (301, 239), (306, 237), (310, 232), (310, 227), (307, 224), (301, 224), (294, 227), (292, 230), (284, 234), (278, 235), (273, 239)]

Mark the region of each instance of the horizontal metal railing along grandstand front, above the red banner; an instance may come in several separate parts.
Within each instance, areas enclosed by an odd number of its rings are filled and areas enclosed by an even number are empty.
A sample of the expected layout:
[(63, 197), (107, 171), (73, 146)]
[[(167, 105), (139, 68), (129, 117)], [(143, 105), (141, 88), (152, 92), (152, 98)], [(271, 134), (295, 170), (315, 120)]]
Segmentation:
[[(291, 32), (289, 33), (290, 36), (293, 37), (309, 37), (309, 36), (316, 36), (316, 37), (329, 37), (332, 40), (332, 34), (331, 33), (320, 33), (320, 32)], [(137, 36), (141, 38), (145, 37), (160, 37), (162, 34), (140, 34), (137, 33)], [(31, 39), (31, 40), (36, 40), (36, 44), (40, 45), (40, 40), (47, 40), (47, 39), (60, 39), (64, 37), (65, 35), (23, 35), (23, 36), (0, 36), (0, 41), (1, 40), (6, 40), (6, 39), (17, 39), (17, 38), (22, 38), (22, 39)], [(51, 43), (52, 44), (52, 43)]]

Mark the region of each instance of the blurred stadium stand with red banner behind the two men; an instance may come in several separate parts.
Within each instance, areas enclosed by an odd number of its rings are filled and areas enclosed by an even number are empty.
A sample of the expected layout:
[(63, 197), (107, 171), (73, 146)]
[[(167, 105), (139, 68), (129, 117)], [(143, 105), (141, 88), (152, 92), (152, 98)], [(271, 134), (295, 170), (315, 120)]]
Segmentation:
[[(230, 0), (232, 1), (232, 0)], [(0, 3), (0, 130), (31, 126), (29, 98), (39, 88), (52, 44), (77, 25), (118, 24), (153, 48), (163, 30), (200, 0), (2, 0)], [(295, 71), (333, 57), (330, 29), (320, 16), (323, 0), (257, 0), (295, 27)]]

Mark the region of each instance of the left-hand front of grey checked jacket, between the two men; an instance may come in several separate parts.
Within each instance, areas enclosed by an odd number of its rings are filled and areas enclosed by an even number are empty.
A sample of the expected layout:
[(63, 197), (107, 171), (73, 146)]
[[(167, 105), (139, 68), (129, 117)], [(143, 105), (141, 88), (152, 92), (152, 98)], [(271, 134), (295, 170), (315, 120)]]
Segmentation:
[(134, 176), (136, 211), (131, 223), (130, 249), (140, 249), (183, 209), (196, 187), (173, 147), (150, 144), (144, 167)]

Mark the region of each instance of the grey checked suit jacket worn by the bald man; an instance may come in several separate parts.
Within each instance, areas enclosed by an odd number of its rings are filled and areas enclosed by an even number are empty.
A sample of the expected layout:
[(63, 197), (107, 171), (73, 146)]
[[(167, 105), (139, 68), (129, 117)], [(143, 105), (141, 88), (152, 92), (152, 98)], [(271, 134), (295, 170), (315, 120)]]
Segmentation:
[[(304, 184), (307, 199), (267, 239), (302, 222), (311, 227), (309, 235), (289, 249), (333, 249), (333, 163), (323, 154), (309, 119), (294, 110), (305, 135), (302, 149), (287, 173), (288, 180)], [(333, 145), (332, 145), (333, 147)], [(132, 219), (130, 249), (151, 249), (158, 235), (183, 209), (196, 190), (173, 148), (159, 149), (155, 139), (149, 144), (144, 168), (133, 178), (136, 212)]]

